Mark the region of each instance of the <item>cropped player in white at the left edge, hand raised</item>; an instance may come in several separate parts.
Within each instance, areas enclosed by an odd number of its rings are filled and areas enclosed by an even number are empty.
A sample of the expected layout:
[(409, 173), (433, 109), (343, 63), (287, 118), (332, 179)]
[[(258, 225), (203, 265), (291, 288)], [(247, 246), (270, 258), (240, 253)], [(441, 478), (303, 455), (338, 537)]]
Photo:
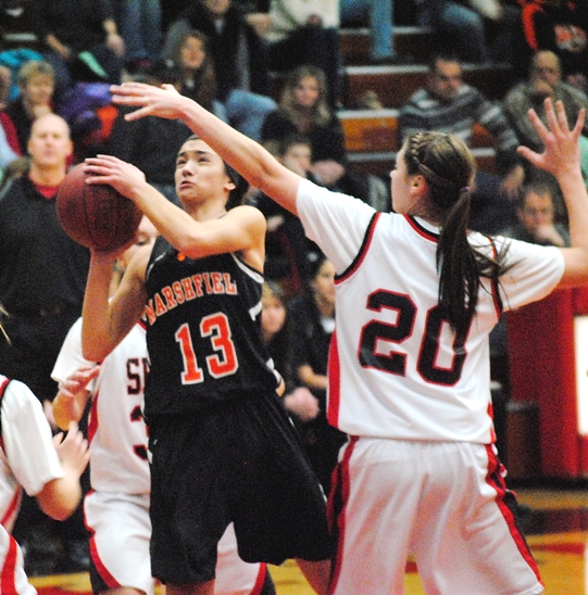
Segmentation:
[(88, 444), (77, 423), (66, 438), (52, 438), (42, 405), (26, 384), (0, 375), (0, 578), (2, 593), (36, 593), (24, 571), (21, 548), (10, 534), (23, 489), (51, 518), (65, 520), (76, 509), (79, 477)]

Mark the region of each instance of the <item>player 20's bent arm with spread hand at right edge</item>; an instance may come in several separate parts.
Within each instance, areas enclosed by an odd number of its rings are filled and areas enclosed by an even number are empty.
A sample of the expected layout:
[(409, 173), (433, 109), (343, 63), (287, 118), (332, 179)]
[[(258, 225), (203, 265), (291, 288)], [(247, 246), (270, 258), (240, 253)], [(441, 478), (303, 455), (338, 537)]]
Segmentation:
[(536, 153), (527, 147), (520, 147), (518, 152), (536, 167), (552, 174), (562, 189), (570, 219), (572, 248), (561, 249), (565, 270), (560, 287), (577, 287), (588, 283), (588, 193), (581, 175), (578, 144), (586, 114), (581, 110), (571, 129), (561, 101), (553, 105), (548, 98), (545, 105), (548, 126), (534, 110), (528, 113), (545, 151)]

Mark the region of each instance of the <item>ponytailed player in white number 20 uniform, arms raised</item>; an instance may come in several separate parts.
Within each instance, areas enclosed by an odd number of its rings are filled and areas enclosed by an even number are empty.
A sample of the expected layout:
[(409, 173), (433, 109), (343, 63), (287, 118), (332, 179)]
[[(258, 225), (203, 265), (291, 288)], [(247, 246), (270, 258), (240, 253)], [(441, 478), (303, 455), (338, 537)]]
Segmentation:
[(543, 153), (520, 149), (562, 189), (572, 248), (559, 249), (467, 231), (475, 161), (453, 136), (406, 139), (391, 173), (396, 213), (378, 214), (301, 179), (171, 87), (112, 91), (139, 106), (128, 121), (180, 118), (298, 214), (336, 266), (328, 418), (352, 438), (330, 495), (329, 593), (401, 594), (409, 552), (427, 594), (542, 593), (493, 447), (488, 333), (502, 309), (588, 282), (584, 112), (570, 129), (562, 103), (547, 100), (549, 127), (529, 112)]

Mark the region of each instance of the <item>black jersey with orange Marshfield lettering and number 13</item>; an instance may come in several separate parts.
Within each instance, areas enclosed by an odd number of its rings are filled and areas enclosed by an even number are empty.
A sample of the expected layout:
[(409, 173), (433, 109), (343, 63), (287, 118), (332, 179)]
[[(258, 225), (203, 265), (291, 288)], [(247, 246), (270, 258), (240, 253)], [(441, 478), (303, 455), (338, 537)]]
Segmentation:
[(146, 417), (276, 389), (261, 338), (263, 276), (234, 254), (188, 258), (158, 238), (146, 276)]

